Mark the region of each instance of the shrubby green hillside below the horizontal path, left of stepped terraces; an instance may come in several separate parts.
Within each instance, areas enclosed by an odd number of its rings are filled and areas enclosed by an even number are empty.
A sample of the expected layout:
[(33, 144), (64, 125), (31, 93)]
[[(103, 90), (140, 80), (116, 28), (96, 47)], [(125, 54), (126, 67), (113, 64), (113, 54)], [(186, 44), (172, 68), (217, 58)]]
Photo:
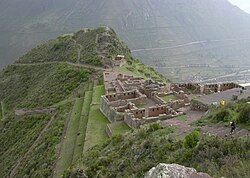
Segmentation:
[[(13, 168), (14, 173), (21, 177), (48, 177), (53, 174), (69, 108), (75, 101), (76, 90), (89, 80), (91, 73), (66, 63), (12, 65), (1, 71), (0, 100), (4, 101), (6, 117), (1, 125), (0, 142), (5, 145), (1, 147), (1, 177), (9, 175)], [(50, 106), (57, 108), (50, 124), (51, 115), (14, 119), (16, 108)], [(47, 124), (48, 128), (42, 133)], [(17, 164), (19, 159), (22, 161)]]

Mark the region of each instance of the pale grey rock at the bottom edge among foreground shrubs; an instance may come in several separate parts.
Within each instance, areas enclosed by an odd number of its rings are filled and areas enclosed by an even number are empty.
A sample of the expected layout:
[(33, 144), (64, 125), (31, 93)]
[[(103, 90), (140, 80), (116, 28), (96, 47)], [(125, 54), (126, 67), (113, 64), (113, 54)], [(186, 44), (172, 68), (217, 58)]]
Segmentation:
[(160, 163), (150, 169), (145, 178), (211, 178), (206, 173), (198, 173), (194, 168), (178, 164)]

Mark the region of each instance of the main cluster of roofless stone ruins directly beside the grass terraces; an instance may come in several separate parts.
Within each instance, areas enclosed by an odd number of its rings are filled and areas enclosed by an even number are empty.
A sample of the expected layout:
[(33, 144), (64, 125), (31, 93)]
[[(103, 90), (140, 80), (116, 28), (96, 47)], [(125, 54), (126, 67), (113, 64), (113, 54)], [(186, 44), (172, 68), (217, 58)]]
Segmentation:
[(138, 128), (182, 115), (178, 109), (189, 105), (183, 91), (171, 92), (166, 84), (112, 70), (106, 70), (103, 76), (106, 94), (101, 98), (100, 110), (110, 122), (124, 121)]

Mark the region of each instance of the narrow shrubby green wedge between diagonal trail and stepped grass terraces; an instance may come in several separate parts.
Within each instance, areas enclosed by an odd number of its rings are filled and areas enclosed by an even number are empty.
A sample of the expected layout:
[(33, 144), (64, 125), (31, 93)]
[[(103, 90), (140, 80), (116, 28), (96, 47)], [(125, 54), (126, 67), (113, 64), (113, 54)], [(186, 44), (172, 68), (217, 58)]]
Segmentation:
[(54, 171), (57, 160), (57, 147), (61, 141), (61, 136), (65, 127), (65, 120), (68, 117), (71, 104), (58, 108), (51, 125), (45, 134), (36, 143), (35, 148), (18, 167), (20, 177), (50, 177)]

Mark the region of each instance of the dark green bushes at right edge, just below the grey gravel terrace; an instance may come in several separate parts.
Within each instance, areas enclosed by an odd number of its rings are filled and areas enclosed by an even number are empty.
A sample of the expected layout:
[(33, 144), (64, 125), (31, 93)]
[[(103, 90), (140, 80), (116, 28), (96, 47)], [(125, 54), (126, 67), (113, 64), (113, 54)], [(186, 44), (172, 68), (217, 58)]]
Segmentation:
[(250, 130), (250, 104), (245, 101), (239, 101), (226, 106), (211, 108), (210, 113), (197, 122), (198, 125), (209, 123), (229, 123), (235, 121), (242, 127)]

